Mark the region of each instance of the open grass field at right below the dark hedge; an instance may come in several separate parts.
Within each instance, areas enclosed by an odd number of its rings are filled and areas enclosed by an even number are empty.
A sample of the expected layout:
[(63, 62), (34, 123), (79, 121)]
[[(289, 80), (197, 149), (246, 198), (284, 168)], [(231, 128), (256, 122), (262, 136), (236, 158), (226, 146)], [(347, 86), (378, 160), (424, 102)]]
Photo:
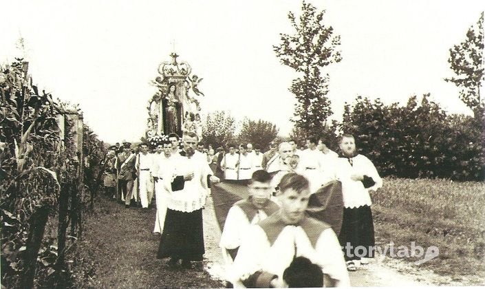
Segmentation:
[(378, 244), (437, 246), (422, 268), (485, 277), (485, 183), (385, 178), (371, 198)]

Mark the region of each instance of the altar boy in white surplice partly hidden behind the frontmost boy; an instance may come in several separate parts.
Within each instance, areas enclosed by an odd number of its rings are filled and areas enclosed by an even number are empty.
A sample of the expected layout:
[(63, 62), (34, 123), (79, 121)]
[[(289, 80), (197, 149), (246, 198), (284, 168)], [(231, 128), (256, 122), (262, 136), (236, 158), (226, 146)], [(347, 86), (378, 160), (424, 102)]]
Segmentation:
[(249, 197), (233, 204), (222, 230), (219, 247), (222, 248), (224, 261), (228, 265), (233, 264), (241, 239), (250, 225), (266, 219), (279, 208), (270, 200), (273, 188), (271, 175), (267, 171), (261, 169), (252, 173), (248, 189)]

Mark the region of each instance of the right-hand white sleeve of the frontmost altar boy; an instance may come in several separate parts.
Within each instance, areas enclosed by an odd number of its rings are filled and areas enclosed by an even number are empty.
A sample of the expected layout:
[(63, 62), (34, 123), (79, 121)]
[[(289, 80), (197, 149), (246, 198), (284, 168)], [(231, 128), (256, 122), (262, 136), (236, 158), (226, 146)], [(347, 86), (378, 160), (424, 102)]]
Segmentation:
[(321, 233), (315, 248), (323, 273), (334, 279), (337, 287), (349, 287), (349, 273), (342, 248), (332, 228), (327, 228)]

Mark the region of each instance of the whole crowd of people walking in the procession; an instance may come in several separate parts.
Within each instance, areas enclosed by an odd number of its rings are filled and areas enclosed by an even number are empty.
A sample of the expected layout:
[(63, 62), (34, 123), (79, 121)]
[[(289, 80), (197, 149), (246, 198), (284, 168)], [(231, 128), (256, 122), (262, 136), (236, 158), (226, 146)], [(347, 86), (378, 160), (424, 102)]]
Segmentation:
[[(228, 284), (235, 287), (349, 286), (347, 271), (367, 264), (356, 248), (374, 247), (369, 191), (382, 186), (372, 162), (356, 151), (355, 138), (343, 135), (340, 155), (324, 139), (271, 142), (262, 152), (252, 144), (204, 146), (197, 133), (175, 133), (156, 144), (109, 147), (105, 189), (127, 208), (148, 208), (155, 200), (157, 257), (171, 268), (191, 268), (205, 252), (202, 209), (219, 181), (246, 180), (249, 197), (229, 210), (219, 246)], [(342, 228), (305, 213), (310, 195), (332, 180), (342, 184)], [(318, 270), (315, 270), (317, 268)]]

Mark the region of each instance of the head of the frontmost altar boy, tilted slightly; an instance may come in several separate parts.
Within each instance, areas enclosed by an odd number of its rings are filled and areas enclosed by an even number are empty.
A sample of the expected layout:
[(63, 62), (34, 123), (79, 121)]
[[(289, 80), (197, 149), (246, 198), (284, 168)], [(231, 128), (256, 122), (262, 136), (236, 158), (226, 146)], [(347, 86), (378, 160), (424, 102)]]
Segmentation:
[(297, 224), (305, 217), (310, 184), (303, 175), (287, 173), (283, 175), (278, 186), (281, 218), (286, 224)]

